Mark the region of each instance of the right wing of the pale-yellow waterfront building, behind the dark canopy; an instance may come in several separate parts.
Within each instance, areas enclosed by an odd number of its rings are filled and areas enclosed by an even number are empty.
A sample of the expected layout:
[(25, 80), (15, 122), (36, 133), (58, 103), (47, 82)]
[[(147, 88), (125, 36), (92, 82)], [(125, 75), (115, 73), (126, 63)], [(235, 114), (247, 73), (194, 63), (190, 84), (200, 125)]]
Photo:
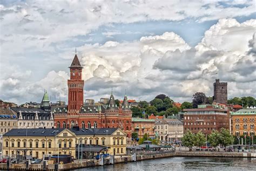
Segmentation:
[(83, 150), (84, 158), (86, 158), (86, 152), (91, 152), (92, 155), (99, 153), (126, 154), (126, 133), (122, 129), (73, 127), (70, 131), (76, 134), (76, 145), (80, 147), (80, 151)]

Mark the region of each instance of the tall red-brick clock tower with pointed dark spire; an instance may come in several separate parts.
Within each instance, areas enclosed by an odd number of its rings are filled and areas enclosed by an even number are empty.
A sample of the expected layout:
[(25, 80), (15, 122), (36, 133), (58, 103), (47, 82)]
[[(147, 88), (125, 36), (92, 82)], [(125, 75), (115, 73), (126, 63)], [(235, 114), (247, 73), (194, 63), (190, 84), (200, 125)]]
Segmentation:
[(77, 54), (70, 65), (69, 87), (69, 113), (78, 113), (80, 107), (84, 104), (84, 80), (82, 80), (82, 69)]

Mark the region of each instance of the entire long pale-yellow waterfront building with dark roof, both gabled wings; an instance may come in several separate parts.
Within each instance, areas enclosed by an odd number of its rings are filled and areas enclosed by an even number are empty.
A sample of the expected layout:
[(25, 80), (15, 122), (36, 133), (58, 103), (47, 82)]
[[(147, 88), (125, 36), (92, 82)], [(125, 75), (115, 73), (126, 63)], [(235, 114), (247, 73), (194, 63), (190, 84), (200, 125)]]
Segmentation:
[(58, 153), (78, 158), (78, 151), (81, 152), (82, 148), (84, 153), (92, 152), (90, 156), (100, 153), (124, 155), (126, 134), (119, 128), (73, 127), (11, 129), (3, 135), (3, 156), (12, 158), (24, 153), (38, 159), (42, 159), (44, 154)]

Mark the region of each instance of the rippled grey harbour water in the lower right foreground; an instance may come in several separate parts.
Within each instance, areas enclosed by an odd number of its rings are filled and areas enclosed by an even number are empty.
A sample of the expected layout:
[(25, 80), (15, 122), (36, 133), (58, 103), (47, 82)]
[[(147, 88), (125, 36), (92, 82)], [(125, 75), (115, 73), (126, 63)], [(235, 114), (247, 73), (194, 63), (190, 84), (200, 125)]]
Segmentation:
[[(76, 170), (81, 171), (85, 168)], [(86, 170), (256, 170), (256, 158), (173, 157), (99, 166)]]

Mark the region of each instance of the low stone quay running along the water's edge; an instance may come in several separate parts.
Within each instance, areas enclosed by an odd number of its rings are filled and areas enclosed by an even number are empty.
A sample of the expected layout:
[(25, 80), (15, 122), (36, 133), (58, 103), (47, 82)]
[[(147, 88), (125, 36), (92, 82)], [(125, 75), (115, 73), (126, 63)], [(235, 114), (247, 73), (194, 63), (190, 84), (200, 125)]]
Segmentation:
[[(143, 160), (151, 160), (151, 159), (160, 159), (160, 158), (173, 158), (173, 157), (192, 157), (192, 158), (255, 158), (256, 153), (244, 153), (244, 152), (201, 152), (201, 151), (193, 151), (193, 152), (186, 152), (186, 151), (177, 151), (177, 152), (150, 152), (144, 153), (136, 156), (136, 161), (143, 161)], [(114, 163), (127, 163), (132, 162), (131, 155), (125, 156), (114, 156)], [(0, 164), (1, 169), (6, 169), (6, 163)], [(43, 166), (41, 165), (30, 165), (31, 170), (43, 170)], [(40, 166), (40, 167), (39, 167)], [(59, 165), (59, 170), (70, 170), (70, 169), (78, 169), (78, 168), (88, 168), (88, 167), (97, 167), (100, 166), (99, 160), (75, 160), (73, 163), (67, 163), (64, 165)], [(12, 169), (23, 169), (25, 170), (25, 164), (12, 164)], [(54, 165), (48, 165), (48, 170), (54, 170)]]

